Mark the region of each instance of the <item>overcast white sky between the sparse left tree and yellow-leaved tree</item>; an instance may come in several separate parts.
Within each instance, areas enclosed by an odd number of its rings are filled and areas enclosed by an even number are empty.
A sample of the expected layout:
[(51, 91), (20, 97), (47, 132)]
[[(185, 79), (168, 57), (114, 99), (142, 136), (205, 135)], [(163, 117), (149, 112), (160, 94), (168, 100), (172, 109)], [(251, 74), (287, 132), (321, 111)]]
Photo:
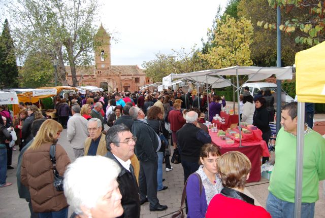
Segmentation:
[[(112, 41), (112, 65), (139, 65), (155, 59), (156, 53), (173, 54), (172, 49), (187, 51), (201, 38), (219, 4), (224, 9), (228, 0), (124, 0), (105, 1), (101, 22), (110, 32), (116, 31)], [(100, 22), (99, 24), (100, 25)]]

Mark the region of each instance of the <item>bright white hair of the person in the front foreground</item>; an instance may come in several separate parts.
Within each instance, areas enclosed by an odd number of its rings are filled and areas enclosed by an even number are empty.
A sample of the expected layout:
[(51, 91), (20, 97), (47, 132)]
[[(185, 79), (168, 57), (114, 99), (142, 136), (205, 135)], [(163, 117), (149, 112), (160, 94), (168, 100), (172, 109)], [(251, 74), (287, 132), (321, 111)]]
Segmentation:
[(73, 211), (82, 214), (81, 206), (94, 207), (100, 196), (108, 192), (107, 184), (116, 180), (119, 172), (115, 161), (102, 156), (84, 156), (71, 163), (64, 173), (63, 189)]

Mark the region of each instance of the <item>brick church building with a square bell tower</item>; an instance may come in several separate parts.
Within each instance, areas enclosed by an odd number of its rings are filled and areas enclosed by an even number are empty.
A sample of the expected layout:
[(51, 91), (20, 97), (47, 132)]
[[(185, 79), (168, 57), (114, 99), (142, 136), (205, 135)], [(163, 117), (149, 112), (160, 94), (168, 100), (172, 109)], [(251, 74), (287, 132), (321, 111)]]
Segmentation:
[[(97, 86), (108, 91), (136, 91), (139, 87), (150, 84), (144, 69), (138, 65), (111, 65), (111, 37), (103, 25), (94, 35), (94, 40), (101, 43), (95, 51), (94, 66), (77, 66), (77, 80), (82, 86)], [(71, 70), (66, 66), (68, 83), (72, 83)]]

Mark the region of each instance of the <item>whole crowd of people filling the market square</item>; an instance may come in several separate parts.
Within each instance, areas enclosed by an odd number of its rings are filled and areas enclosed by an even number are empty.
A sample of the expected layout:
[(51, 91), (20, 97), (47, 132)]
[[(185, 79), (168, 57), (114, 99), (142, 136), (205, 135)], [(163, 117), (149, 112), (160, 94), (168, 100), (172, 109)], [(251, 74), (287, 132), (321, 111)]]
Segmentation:
[[(240, 97), (241, 120), (259, 128), (268, 143), (274, 98), (269, 90), (255, 99), (247, 90)], [(163, 170), (173, 170), (171, 147), (180, 152), (187, 217), (291, 217), (296, 150), (288, 144), (296, 144), (296, 102), (282, 108), (267, 209), (244, 194), (249, 159), (240, 152), (221, 155), (204, 125), (220, 114), (224, 96), (192, 94), (191, 89), (90, 92), (56, 96), (54, 105), (57, 121), (36, 105), (21, 102), (15, 119), (6, 105), (0, 106), (0, 187), (12, 185), (6, 174), (14, 168), (11, 157), (17, 146), (18, 194), (28, 202), (30, 217), (67, 217), (69, 205), (71, 217), (140, 217), (140, 205), (146, 202), (150, 211), (166, 210), (157, 192), (168, 189)], [(72, 163), (57, 143), (63, 129), (76, 158)], [(313, 217), (318, 181), (325, 179), (325, 139), (308, 126), (305, 138), (308, 172), (302, 202), (308, 209), (302, 217)], [(50, 158), (53, 148), (56, 163)], [(60, 179), (64, 191), (53, 185)]]

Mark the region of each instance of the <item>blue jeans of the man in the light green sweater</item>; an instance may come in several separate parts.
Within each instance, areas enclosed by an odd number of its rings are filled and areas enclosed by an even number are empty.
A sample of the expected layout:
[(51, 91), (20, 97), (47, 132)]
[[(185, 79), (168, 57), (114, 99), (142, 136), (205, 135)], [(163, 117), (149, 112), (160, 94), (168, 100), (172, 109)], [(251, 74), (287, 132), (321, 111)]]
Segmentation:
[[(273, 218), (293, 218), (295, 203), (282, 201), (269, 193), (266, 210)], [(301, 218), (313, 218), (315, 212), (315, 203), (301, 203)]]

